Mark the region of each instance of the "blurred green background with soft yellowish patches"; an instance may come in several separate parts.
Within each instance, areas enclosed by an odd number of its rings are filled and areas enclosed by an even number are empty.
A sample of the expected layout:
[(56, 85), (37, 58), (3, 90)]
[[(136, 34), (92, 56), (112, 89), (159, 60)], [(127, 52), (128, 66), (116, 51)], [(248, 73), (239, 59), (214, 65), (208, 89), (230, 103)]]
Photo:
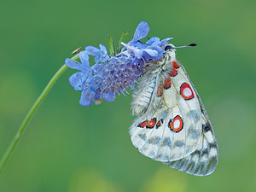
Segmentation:
[[(1, 192), (200, 192), (256, 190), (254, 0), (1, 1), (0, 155), (49, 79), (87, 45), (132, 38), (141, 20), (148, 37), (174, 37), (207, 108), (219, 163), (208, 177), (172, 170), (131, 144), (129, 96), (79, 106), (68, 69), (35, 114), (0, 174)], [(132, 92), (132, 91), (130, 91)]]

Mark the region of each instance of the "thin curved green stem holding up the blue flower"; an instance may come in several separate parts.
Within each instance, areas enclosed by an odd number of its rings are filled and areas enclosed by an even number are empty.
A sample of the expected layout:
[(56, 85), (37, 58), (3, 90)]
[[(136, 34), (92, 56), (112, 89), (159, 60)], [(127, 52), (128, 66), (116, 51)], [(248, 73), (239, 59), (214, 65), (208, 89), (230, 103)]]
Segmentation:
[[(79, 61), (79, 55), (74, 55), (72, 58), (74, 61)], [(20, 125), (19, 130), (17, 131), (13, 141), (9, 144), (9, 147), (6, 149), (5, 153), (3, 154), (3, 157), (0, 161), (0, 172), (3, 171), (3, 167), (5, 166), (6, 162), (9, 160), (10, 155), (14, 152), (15, 147), (20, 141), (21, 136), (23, 135), (24, 131), (26, 130), (26, 126), (32, 119), (33, 114), (37, 111), (40, 104), (44, 101), (45, 96), (48, 95), (49, 90), (53, 87), (57, 79), (61, 77), (61, 74), (64, 73), (67, 70), (67, 66), (64, 64), (50, 79), (49, 83), (44, 88), (42, 94), (38, 97), (38, 100), (33, 104), (30, 111), (26, 114), (26, 118), (23, 120), (22, 124)]]

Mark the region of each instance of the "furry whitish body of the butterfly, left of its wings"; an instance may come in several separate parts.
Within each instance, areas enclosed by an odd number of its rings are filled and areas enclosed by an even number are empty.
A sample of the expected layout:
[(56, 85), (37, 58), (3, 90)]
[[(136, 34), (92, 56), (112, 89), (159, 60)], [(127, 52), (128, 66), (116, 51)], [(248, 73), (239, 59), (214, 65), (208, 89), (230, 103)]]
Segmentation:
[(133, 114), (142, 115), (148, 109), (152, 96), (157, 87), (163, 87), (170, 72), (174, 69), (172, 62), (176, 61), (176, 49), (164, 52), (160, 60), (151, 60), (144, 64), (144, 75), (140, 80), (137, 90), (133, 94), (131, 110)]

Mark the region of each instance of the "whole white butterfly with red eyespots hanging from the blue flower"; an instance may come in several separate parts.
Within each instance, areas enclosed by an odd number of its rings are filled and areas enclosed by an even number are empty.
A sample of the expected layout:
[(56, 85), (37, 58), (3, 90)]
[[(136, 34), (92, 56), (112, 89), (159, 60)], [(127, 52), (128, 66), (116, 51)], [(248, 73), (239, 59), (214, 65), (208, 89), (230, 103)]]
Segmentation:
[(176, 59), (175, 48), (167, 44), (160, 60), (144, 64), (131, 102), (132, 113), (137, 115), (130, 127), (131, 142), (153, 160), (207, 176), (218, 164), (218, 143), (201, 98)]

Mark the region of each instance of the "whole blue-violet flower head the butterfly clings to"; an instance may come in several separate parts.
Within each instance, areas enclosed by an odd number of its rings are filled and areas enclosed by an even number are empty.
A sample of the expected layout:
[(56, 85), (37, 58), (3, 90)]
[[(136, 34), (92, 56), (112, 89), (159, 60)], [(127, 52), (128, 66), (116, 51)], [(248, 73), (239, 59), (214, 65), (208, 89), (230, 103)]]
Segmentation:
[[(171, 38), (149, 38), (143, 44), (139, 40), (145, 38), (149, 32), (148, 23), (140, 22), (134, 33), (134, 37), (128, 44), (121, 43), (124, 48), (115, 55), (108, 55), (105, 46), (100, 44), (100, 49), (93, 46), (85, 47), (79, 53), (81, 63), (66, 59), (68, 67), (80, 72), (69, 77), (69, 82), (75, 90), (82, 90), (79, 103), (82, 106), (90, 106), (92, 102), (100, 104), (102, 99), (113, 102), (115, 95), (120, 92), (128, 94), (130, 88), (134, 90), (134, 84), (143, 75), (143, 64), (148, 60), (159, 60), (164, 52), (164, 45)], [(90, 67), (89, 55), (95, 56), (95, 64)]]

